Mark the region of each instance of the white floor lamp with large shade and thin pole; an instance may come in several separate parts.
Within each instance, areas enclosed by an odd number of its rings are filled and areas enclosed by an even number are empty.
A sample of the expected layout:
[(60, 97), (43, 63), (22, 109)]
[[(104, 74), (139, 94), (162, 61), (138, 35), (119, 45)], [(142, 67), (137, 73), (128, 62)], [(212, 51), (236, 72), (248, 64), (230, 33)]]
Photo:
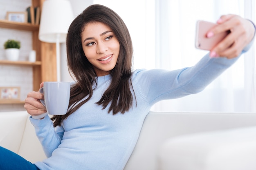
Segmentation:
[(56, 43), (57, 81), (61, 81), (60, 43), (66, 42), (67, 30), (74, 20), (69, 0), (45, 0), (39, 26), (39, 40)]

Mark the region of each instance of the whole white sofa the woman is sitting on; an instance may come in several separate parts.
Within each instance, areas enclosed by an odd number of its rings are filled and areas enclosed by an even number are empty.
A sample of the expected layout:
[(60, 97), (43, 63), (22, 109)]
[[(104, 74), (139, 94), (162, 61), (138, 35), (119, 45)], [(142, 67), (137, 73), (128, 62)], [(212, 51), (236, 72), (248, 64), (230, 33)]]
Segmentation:
[[(0, 146), (45, 159), (26, 111), (0, 112)], [(256, 113), (157, 113), (144, 121), (125, 170), (255, 170)]]

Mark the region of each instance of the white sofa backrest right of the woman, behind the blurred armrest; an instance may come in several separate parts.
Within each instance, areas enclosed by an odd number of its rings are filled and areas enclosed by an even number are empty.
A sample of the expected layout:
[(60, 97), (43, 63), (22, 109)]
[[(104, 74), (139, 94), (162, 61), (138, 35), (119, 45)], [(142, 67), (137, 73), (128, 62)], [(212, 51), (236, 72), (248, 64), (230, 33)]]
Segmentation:
[(171, 137), (243, 126), (256, 126), (256, 114), (150, 112), (144, 121), (135, 149), (124, 170), (158, 170), (159, 147)]

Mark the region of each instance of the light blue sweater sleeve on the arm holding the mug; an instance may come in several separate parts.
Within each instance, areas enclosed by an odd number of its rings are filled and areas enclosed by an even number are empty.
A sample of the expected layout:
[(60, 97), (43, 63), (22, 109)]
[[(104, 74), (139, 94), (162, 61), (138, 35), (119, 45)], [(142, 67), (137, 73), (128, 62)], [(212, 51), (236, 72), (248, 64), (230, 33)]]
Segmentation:
[(54, 129), (53, 122), (48, 115), (42, 120), (29, 118), (36, 130), (36, 135), (43, 146), (43, 150), (47, 157), (52, 155), (52, 152), (61, 144), (64, 129), (57, 126)]

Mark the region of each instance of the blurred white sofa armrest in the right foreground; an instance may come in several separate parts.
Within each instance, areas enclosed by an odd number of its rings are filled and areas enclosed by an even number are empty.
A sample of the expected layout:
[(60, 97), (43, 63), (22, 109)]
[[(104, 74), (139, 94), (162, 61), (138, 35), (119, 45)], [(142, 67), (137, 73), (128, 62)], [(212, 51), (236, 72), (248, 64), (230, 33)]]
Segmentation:
[(169, 138), (159, 170), (255, 170), (256, 126)]

